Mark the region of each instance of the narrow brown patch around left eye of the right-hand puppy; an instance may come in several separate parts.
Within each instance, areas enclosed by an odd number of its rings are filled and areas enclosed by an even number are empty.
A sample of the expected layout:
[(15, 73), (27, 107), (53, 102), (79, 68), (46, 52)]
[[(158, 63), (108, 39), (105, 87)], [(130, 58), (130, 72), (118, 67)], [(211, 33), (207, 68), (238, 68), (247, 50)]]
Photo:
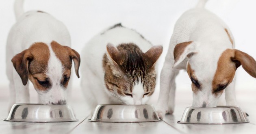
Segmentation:
[(192, 91), (193, 91), (193, 93), (197, 93), (198, 91), (200, 91), (201, 84), (197, 80), (197, 77), (195, 76), (195, 71), (193, 69), (191, 69), (191, 66), (189, 63), (187, 65), (187, 73), (192, 82), (192, 84), (191, 84)]

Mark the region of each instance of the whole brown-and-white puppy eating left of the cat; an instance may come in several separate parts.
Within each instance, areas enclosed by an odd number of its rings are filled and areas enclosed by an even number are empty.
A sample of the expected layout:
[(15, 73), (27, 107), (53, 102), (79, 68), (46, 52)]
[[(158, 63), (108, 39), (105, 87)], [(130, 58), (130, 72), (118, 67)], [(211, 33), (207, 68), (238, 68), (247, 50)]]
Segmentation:
[(15, 1), (17, 22), (7, 41), (11, 105), (30, 102), (28, 79), (43, 104), (66, 104), (72, 60), (79, 78), (80, 55), (69, 48), (62, 22), (42, 11), (24, 13), (22, 6), (23, 0)]

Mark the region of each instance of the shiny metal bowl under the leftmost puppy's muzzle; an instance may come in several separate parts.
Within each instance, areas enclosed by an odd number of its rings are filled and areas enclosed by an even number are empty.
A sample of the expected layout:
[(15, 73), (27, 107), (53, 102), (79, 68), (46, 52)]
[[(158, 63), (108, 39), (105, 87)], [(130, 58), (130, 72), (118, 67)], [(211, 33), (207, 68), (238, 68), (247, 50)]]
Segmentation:
[(14, 104), (4, 121), (68, 122), (78, 120), (69, 105)]

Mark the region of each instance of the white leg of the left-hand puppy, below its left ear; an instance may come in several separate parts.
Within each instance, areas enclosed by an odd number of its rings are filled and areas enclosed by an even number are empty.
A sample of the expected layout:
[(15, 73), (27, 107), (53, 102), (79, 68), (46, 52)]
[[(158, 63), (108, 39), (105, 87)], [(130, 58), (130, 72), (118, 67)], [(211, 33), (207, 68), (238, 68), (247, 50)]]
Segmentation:
[(30, 103), (28, 83), (24, 86), (16, 70), (13, 68), (13, 81), (15, 88), (15, 103)]

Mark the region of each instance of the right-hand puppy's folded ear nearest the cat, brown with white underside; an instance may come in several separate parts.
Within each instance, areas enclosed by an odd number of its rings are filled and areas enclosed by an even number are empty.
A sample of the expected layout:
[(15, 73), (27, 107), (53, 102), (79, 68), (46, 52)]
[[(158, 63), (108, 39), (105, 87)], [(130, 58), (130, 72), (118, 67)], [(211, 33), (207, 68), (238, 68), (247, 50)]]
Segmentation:
[(195, 54), (195, 42), (182, 42), (174, 48), (174, 68), (177, 67), (187, 56)]

